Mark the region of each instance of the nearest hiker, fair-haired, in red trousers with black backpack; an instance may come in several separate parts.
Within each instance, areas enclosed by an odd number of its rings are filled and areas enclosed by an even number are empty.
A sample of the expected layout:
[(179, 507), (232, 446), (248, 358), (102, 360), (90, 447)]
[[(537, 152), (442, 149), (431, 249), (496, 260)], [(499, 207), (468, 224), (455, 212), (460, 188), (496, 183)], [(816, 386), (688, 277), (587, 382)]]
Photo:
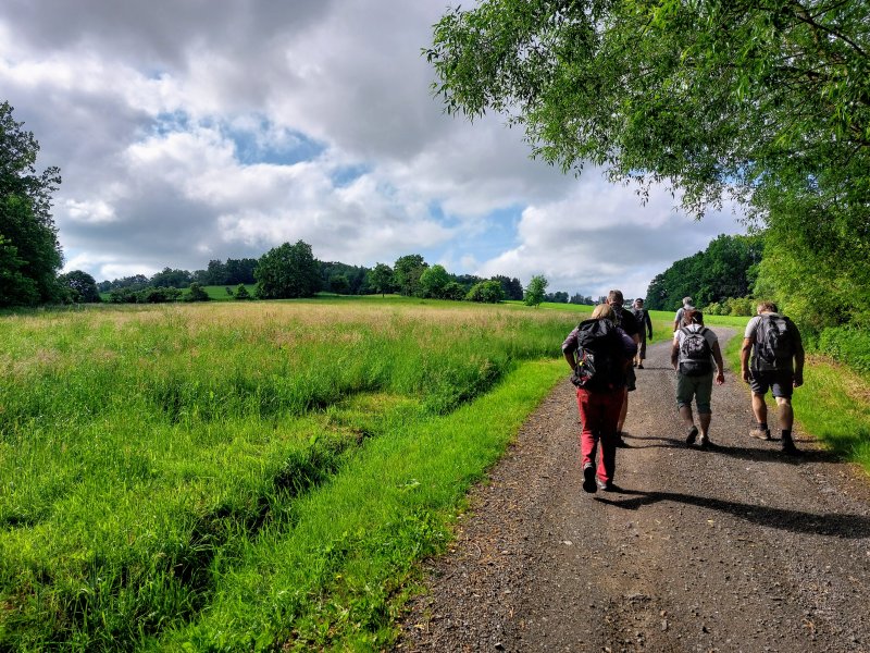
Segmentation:
[[(613, 308), (599, 304), (592, 319), (568, 334), (562, 354), (571, 366), (571, 381), (577, 387), (577, 410), (583, 490), (618, 492), (613, 484), (617, 466), (617, 420), (622, 407), (625, 372), (637, 345), (613, 323)], [(596, 467), (598, 444), (601, 455)]]

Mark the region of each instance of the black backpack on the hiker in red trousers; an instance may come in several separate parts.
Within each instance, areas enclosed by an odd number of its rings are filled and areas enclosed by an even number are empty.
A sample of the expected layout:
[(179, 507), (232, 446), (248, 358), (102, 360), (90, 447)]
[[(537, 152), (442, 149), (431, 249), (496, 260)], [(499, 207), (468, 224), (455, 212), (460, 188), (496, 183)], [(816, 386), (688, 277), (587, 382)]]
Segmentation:
[(577, 329), (577, 365), (571, 382), (592, 392), (624, 385), (622, 341), (613, 322), (585, 320)]

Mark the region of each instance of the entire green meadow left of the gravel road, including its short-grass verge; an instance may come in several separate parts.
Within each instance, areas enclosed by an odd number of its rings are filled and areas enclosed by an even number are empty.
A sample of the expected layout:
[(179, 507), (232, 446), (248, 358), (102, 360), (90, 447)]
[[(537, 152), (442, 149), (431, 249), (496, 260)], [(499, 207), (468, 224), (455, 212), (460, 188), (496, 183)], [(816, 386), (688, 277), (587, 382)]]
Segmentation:
[(385, 645), (577, 318), (380, 297), (0, 318), (0, 650)]

